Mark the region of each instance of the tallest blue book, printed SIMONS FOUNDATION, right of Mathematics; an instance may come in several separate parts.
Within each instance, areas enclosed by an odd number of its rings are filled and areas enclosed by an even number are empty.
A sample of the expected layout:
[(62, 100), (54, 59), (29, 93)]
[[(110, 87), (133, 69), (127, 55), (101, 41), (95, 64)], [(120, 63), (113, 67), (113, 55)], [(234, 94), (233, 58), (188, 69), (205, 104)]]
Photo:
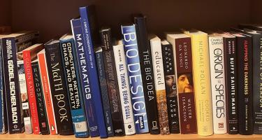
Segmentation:
[[(81, 7), (80, 10), (80, 19), (81, 19), (81, 25), (83, 30), (83, 36), (84, 36), (84, 43), (85, 43), (85, 51), (87, 53), (87, 66), (89, 69), (89, 75), (90, 75), (90, 85), (92, 86), (91, 92), (92, 97), (94, 97), (94, 106), (95, 106), (95, 112), (96, 113), (96, 121), (99, 124), (99, 133), (101, 138), (108, 137), (107, 132), (105, 129), (105, 120), (103, 119), (103, 104), (101, 99), (101, 92), (99, 87), (99, 76), (98, 71), (96, 68), (96, 57), (94, 56), (94, 42), (92, 40), (92, 31), (90, 25), (96, 25), (94, 23), (95, 15), (94, 13), (94, 6), (87, 6), (87, 7)], [(93, 21), (92, 21), (92, 20)]]

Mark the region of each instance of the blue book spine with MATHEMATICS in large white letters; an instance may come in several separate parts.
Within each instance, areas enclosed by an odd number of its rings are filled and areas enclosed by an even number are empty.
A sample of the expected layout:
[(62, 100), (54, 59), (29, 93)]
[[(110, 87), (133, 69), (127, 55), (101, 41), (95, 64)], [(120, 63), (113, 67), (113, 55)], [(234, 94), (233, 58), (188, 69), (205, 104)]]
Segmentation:
[(91, 92), (90, 77), (87, 66), (87, 52), (85, 51), (84, 36), (80, 19), (71, 20), (71, 28), (75, 38), (75, 50), (78, 59), (80, 83), (82, 85), (82, 94), (85, 103), (85, 113), (89, 125), (91, 137), (99, 136), (99, 127), (96, 122), (96, 113), (94, 111), (94, 99)]

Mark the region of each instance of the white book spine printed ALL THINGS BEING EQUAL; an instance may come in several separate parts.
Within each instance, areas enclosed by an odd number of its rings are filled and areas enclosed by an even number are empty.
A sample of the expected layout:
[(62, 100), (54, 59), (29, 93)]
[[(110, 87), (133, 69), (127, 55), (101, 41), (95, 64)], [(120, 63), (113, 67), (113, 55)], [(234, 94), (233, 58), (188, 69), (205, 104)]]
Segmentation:
[(126, 69), (126, 57), (124, 56), (124, 45), (114, 45), (113, 51), (115, 57), (115, 68), (117, 71), (120, 100), (122, 104), (124, 131), (126, 135), (136, 134), (135, 123), (133, 120), (131, 93), (129, 89), (129, 78)]

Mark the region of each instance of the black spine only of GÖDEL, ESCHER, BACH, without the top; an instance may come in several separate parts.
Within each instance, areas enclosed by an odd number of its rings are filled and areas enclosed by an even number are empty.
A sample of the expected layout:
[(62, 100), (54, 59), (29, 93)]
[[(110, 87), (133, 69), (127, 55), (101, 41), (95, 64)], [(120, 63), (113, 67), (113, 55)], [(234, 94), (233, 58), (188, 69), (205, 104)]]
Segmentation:
[(10, 134), (21, 133), (24, 131), (24, 122), (20, 106), (15, 38), (3, 38), (2, 41), (8, 130)]

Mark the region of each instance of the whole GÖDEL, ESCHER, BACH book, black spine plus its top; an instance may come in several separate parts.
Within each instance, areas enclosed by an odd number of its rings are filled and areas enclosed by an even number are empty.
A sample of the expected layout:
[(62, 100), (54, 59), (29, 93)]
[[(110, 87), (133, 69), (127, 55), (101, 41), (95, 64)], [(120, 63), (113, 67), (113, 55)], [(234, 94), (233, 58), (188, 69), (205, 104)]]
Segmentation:
[(3, 77), (10, 134), (24, 132), (21, 96), (19, 94), (17, 52), (32, 45), (38, 35), (37, 31), (22, 31), (2, 38)]

